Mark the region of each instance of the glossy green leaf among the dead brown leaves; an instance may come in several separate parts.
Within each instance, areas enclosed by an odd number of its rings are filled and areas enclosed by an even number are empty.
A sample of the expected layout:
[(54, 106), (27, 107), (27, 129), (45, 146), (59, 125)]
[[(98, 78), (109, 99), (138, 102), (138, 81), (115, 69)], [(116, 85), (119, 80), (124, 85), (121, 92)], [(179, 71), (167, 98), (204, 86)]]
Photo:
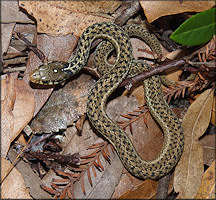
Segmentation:
[(215, 8), (203, 11), (186, 20), (170, 38), (183, 45), (200, 45), (215, 34)]

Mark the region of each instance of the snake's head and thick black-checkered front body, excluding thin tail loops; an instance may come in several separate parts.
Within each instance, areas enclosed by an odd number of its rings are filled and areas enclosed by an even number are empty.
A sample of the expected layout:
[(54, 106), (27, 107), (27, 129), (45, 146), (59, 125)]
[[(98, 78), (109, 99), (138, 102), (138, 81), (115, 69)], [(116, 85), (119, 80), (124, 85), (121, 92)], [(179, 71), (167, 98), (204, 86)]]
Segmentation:
[[(139, 27), (132, 26), (131, 30), (135, 33)], [(151, 34), (146, 31), (144, 37), (155, 50), (157, 44)], [(140, 179), (158, 179), (177, 164), (184, 146), (181, 123), (164, 99), (160, 76), (154, 75), (143, 80), (148, 109), (164, 135), (163, 147), (153, 160), (142, 159), (125, 131), (105, 112), (108, 97), (128, 76), (133, 66), (142, 68), (141, 71), (151, 69), (143, 61), (133, 59), (130, 37), (122, 27), (107, 22), (89, 26), (79, 38), (76, 54), (69, 62), (45, 63), (29, 74), (30, 81), (45, 85), (59, 84), (78, 73), (87, 63), (93, 41), (99, 38), (112, 44), (116, 51), (116, 62), (92, 87), (87, 100), (88, 118), (93, 127), (114, 146), (121, 162), (132, 175)], [(104, 58), (104, 54), (101, 57)]]

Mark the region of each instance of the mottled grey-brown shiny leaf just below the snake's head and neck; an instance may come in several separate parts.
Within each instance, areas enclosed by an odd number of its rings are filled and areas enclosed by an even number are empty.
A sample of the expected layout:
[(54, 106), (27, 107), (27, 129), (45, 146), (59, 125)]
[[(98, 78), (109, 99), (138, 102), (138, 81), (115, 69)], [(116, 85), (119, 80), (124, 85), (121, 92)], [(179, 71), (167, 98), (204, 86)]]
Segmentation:
[(91, 77), (85, 74), (74, 78), (63, 88), (55, 90), (30, 126), (37, 133), (64, 130), (86, 113)]

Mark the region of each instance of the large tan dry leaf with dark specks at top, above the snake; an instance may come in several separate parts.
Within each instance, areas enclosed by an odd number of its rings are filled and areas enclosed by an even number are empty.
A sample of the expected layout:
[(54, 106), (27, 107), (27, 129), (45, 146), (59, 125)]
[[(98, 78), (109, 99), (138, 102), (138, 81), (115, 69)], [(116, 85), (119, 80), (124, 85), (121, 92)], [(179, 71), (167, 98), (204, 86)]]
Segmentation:
[(108, 22), (113, 19), (108, 13), (115, 11), (120, 1), (19, 1), (37, 20), (38, 32), (49, 35), (80, 36), (90, 25), (96, 22)]

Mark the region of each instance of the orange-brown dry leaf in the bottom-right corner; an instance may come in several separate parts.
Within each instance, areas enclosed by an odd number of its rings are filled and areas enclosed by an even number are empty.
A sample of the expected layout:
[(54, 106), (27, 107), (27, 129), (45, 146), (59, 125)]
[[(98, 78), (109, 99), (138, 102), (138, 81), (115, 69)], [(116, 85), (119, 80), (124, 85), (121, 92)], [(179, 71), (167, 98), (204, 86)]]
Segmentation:
[(215, 199), (215, 161), (205, 171), (195, 199)]

